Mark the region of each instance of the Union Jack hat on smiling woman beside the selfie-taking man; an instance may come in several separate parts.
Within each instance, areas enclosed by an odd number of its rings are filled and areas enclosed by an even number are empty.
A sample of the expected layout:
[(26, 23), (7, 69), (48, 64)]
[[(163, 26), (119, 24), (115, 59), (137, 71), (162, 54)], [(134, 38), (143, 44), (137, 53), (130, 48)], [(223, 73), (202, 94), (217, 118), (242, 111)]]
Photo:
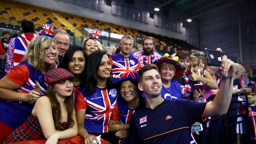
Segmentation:
[(138, 86), (137, 73), (138, 73), (137, 70), (127, 71), (127, 72), (123, 73), (123, 74), (120, 76), (119, 80), (117, 80), (117, 81), (114, 82), (114, 85), (115, 85), (116, 90), (117, 90), (117, 91), (120, 91), (121, 83), (122, 83), (123, 81), (127, 81), (127, 80), (131, 80), (132, 83), (134, 83), (136, 86)]

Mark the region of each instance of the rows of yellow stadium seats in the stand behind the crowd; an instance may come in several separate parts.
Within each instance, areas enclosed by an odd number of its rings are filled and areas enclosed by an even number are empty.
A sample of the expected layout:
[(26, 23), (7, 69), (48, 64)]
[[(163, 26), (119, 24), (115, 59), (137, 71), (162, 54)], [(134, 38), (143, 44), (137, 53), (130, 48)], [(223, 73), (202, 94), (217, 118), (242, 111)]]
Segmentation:
[[(0, 0), (0, 28), (19, 30), (23, 20), (33, 21), (37, 31), (41, 30), (43, 23), (52, 24), (56, 28), (66, 30), (71, 36), (79, 38), (82, 36), (82, 28), (97, 28), (120, 35), (129, 34), (134, 37), (136, 44), (141, 46), (142, 39), (151, 36), (155, 39), (155, 49), (161, 54), (174, 53), (179, 49), (195, 48), (185, 41), (157, 35), (134, 28), (129, 28), (100, 20), (81, 17), (56, 10), (12, 0)], [(80, 33), (80, 34), (78, 34)], [(86, 36), (85, 36), (86, 37)]]

